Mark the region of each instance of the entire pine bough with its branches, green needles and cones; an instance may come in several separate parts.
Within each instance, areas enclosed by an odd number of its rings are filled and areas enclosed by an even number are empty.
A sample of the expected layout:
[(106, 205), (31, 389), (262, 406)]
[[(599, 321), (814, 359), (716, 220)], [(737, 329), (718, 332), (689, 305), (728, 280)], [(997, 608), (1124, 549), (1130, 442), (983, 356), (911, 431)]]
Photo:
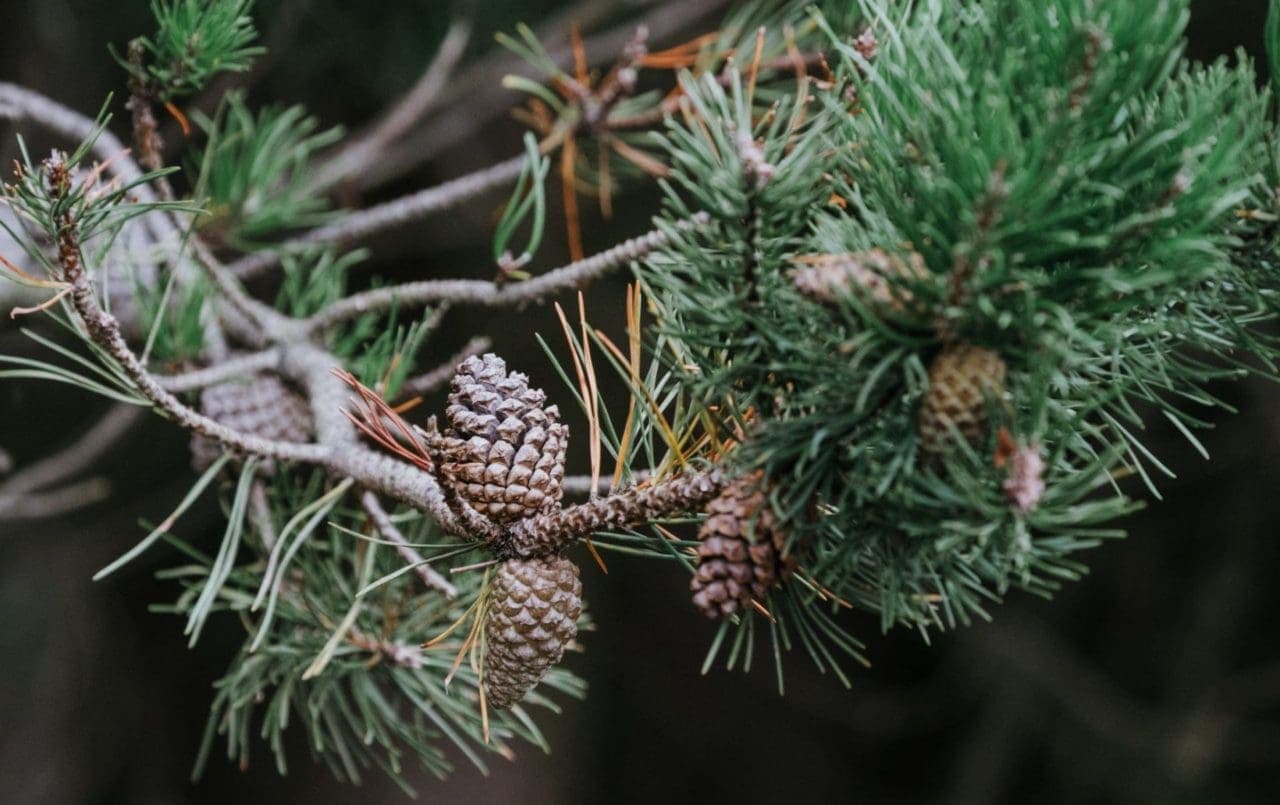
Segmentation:
[[(197, 557), (170, 605), (192, 640), (216, 612), (246, 626), (197, 770), (219, 736), (244, 759), (259, 735), (283, 770), (289, 713), (353, 781), (404, 783), (406, 756), (443, 776), (444, 740), (481, 768), (545, 746), (527, 710), (582, 694), (559, 663), (582, 617), (570, 557), (588, 549), (689, 570), (717, 621), (708, 662), (737, 663), (762, 625), (777, 662), (799, 645), (852, 685), (842, 610), (948, 628), (1010, 591), (1052, 593), (1119, 534), (1140, 489), (1117, 480), (1155, 486), (1139, 411), (1194, 440), (1210, 384), (1274, 369), (1276, 104), (1247, 59), (1181, 58), (1180, 0), (762, 1), (666, 50), (637, 31), (598, 81), (521, 28), (504, 44), (543, 79), (507, 82), (532, 97), (525, 156), (355, 212), (315, 195), (349, 161), (321, 161), (337, 134), (241, 95), (197, 120), (184, 173), (164, 169), (152, 105), (180, 115), (175, 100), (260, 49), (247, 0), (154, 5), (157, 33), (123, 60), (141, 168), (105, 118), (0, 84), (0, 115), (84, 138), (23, 150), (4, 186), (20, 250), (0, 275), (45, 298), (15, 312), (65, 329), (33, 333), (47, 361), (0, 356), (0, 378), (191, 433), (191, 493), (100, 575), (165, 539)], [(637, 93), (637, 72), (671, 68), (668, 92)], [(660, 178), (655, 229), (529, 271), (553, 160), (575, 251), (584, 187), (608, 209)], [(494, 280), (348, 289), (352, 241), (506, 182)], [(238, 279), (271, 267), (270, 302)], [(425, 360), (449, 306), (522, 306), (628, 267), (625, 338), (561, 311), (559, 390), (483, 340)], [(140, 276), (163, 292), (113, 305)], [(599, 393), (609, 371), (623, 416)], [(443, 430), (387, 402), (445, 378)], [(549, 401), (585, 415), (581, 482)], [(76, 481), (32, 477), (0, 484), (0, 518), (41, 491), (61, 506)], [(589, 498), (566, 503), (571, 486)], [(215, 491), (228, 523), (210, 550), (180, 514)]]

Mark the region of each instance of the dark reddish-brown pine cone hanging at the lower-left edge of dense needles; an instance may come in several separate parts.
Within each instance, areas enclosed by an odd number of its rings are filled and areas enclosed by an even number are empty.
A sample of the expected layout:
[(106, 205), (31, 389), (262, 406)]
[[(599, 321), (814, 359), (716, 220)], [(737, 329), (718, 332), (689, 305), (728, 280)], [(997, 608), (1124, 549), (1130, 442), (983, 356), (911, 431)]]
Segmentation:
[(785, 555), (787, 534), (769, 507), (760, 474), (732, 481), (707, 504), (698, 531), (698, 570), (690, 581), (694, 604), (708, 618), (733, 614), (763, 600), (785, 580), (795, 561)]

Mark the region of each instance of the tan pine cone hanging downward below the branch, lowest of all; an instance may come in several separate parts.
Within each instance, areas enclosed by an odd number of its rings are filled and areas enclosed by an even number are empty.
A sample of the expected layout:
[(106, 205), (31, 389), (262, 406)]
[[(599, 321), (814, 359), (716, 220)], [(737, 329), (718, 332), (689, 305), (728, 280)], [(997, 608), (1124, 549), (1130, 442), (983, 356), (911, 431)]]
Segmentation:
[(559, 662), (577, 635), (582, 582), (561, 557), (507, 559), (498, 567), (485, 616), (485, 691), (503, 709)]

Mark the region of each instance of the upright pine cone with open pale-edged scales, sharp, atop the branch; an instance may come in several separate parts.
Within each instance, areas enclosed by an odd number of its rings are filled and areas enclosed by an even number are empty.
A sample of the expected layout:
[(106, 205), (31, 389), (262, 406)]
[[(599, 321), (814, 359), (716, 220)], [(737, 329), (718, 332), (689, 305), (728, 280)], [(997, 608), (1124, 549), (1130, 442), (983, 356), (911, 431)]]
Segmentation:
[(564, 477), (568, 427), (529, 378), (495, 355), (470, 357), (453, 376), (438, 440), (442, 475), (481, 514), (513, 522), (554, 508)]

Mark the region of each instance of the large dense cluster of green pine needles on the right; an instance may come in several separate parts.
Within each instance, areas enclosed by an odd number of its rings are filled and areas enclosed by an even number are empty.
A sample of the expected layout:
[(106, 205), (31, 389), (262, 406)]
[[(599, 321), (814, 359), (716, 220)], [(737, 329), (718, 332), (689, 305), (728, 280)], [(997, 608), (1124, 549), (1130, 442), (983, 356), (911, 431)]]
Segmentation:
[[(1243, 56), (1181, 59), (1184, 3), (860, 9), (819, 18), (832, 79), (764, 114), (741, 81), (686, 83), (666, 223), (714, 225), (668, 229), (640, 276), (817, 586), (886, 627), (946, 628), (1078, 578), (1142, 491), (1121, 479), (1156, 490), (1144, 425), (1194, 440), (1213, 384), (1274, 361), (1274, 267), (1239, 253), (1242, 218), (1275, 206), (1270, 95)], [(870, 275), (881, 299), (796, 285), (797, 265), (874, 250), (924, 270)], [(995, 351), (1007, 379), (982, 438), (938, 465), (918, 411), (952, 344)], [(1030, 511), (997, 436), (1043, 450)]]

